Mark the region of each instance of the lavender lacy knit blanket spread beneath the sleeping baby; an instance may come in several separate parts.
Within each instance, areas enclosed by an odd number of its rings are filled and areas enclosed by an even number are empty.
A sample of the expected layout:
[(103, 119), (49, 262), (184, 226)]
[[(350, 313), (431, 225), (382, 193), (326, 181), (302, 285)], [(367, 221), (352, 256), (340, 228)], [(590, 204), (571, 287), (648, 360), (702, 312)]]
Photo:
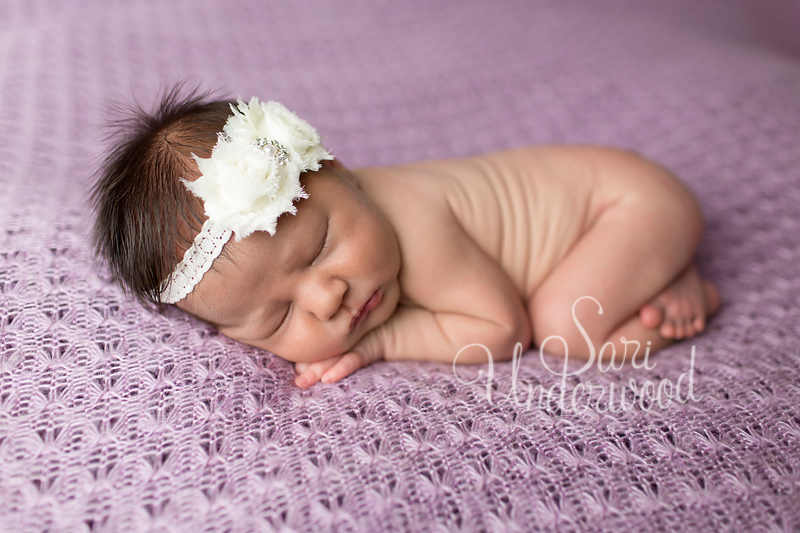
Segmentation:
[[(800, 531), (799, 29), (788, 0), (3, 0), (0, 530)], [(636, 149), (700, 198), (724, 307), (646, 368), (301, 391), (92, 265), (106, 102), (182, 78), (354, 167)]]

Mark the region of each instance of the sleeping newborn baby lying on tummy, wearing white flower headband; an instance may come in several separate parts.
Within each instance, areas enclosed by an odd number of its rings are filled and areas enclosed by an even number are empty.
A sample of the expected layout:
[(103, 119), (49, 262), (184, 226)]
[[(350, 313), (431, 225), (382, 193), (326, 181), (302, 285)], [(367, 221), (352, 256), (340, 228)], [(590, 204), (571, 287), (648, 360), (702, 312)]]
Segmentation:
[(619, 361), (719, 307), (692, 263), (696, 199), (632, 152), (351, 170), (278, 103), (177, 90), (118, 133), (93, 195), (115, 279), (294, 362), (300, 387), (381, 359), (508, 360), (518, 343)]

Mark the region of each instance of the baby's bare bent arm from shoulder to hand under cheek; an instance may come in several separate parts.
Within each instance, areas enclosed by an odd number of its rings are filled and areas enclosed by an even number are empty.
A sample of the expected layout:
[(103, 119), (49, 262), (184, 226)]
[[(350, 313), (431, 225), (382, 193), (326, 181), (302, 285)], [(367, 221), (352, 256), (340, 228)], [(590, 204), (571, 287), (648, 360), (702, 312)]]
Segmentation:
[[(522, 299), (501, 267), (464, 232), (449, 209), (406, 198), (397, 225), (403, 253), (401, 286), (413, 303), (398, 306), (384, 324), (343, 355), (296, 366), (299, 386), (337, 381), (374, 361), (452, 363), (470, 344), (494, 360), (509, 359), (516, 343), (528, 346), (530, 322)], [(437, 208), (438, 207), (438, 208)], [(435, 228), (436, 231), (431, 231)], [(482, 349), (464, 350), (459, 364), (487, 361)]]

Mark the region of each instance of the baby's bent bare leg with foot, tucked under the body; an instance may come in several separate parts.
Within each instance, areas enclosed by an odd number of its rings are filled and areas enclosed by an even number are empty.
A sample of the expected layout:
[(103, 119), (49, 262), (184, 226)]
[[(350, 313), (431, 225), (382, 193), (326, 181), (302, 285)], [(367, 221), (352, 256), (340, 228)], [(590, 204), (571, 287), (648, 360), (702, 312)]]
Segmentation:
[[(605, 177), (598, 180), (601, 207), (528, 309), (536, 344), (555, 336), (545, 351), (586, 358), (611, 343), (619, 361), (624, 341), (642, 348), (650, 342), (653, 351), (672, 342), (668, 337), (699, 332), (718, 298), (691, 265), (703, 230), (694, 196), (665, 169), (633, 154), (610, 152), (598, 168)], [(661, 331), (654, 329), (659, 325)]]

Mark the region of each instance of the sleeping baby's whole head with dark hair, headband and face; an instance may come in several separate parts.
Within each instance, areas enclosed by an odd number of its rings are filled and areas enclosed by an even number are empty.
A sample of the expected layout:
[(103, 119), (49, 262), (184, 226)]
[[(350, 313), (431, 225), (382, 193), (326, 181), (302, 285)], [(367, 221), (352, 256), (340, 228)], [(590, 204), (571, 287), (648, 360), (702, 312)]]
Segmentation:
[(135, 298), (295, 362), (346, 352), (392, 315), (394, 232), (306, 122), (173, 91), (121, 124), (94, 240)]

